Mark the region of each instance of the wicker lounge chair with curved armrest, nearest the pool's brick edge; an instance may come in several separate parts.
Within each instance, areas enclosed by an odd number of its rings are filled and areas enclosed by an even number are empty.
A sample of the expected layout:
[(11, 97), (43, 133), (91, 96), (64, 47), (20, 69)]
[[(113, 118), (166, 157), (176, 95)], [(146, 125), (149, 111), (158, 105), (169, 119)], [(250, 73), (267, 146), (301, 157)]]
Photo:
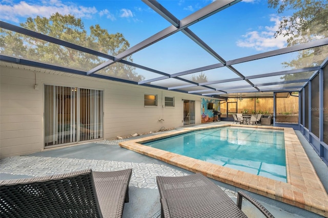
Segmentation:
[(255, 199), (238, 192), (237, 205), (215, 183), (200, 173), (183, 177), (157, 177), (161, 217), (247, 217), (241, 211), (242, 197), (265, 216), (273, 215)]

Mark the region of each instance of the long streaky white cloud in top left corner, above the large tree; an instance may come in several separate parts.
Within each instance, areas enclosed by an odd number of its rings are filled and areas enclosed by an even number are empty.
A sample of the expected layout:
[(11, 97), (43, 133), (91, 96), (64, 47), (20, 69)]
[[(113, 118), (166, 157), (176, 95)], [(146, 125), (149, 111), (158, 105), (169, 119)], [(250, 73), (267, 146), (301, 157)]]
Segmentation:
[[(6, 4), (7, 3), (7, 4)], [(12, 2), (3, 1), (0, 4), (1, 19), (19, 22), (21, 17), (50, 17), (50, 15), (58, 12), (60, 14), (73, 14), (79, 18), (92, 18), (97, 13), (95, 7), (77, 6), (72, 3), (65, 4), (58, 0), (42, 1), (42, 2), (19, 2), (12, 4)]]

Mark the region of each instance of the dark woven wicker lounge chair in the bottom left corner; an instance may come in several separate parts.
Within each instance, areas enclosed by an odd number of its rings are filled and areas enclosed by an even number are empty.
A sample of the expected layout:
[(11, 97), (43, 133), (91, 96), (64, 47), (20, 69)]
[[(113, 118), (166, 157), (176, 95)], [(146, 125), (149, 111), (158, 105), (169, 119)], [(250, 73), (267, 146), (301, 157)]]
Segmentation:
[(0, 181), (1, 217), (121, 217), (132, 169)]

